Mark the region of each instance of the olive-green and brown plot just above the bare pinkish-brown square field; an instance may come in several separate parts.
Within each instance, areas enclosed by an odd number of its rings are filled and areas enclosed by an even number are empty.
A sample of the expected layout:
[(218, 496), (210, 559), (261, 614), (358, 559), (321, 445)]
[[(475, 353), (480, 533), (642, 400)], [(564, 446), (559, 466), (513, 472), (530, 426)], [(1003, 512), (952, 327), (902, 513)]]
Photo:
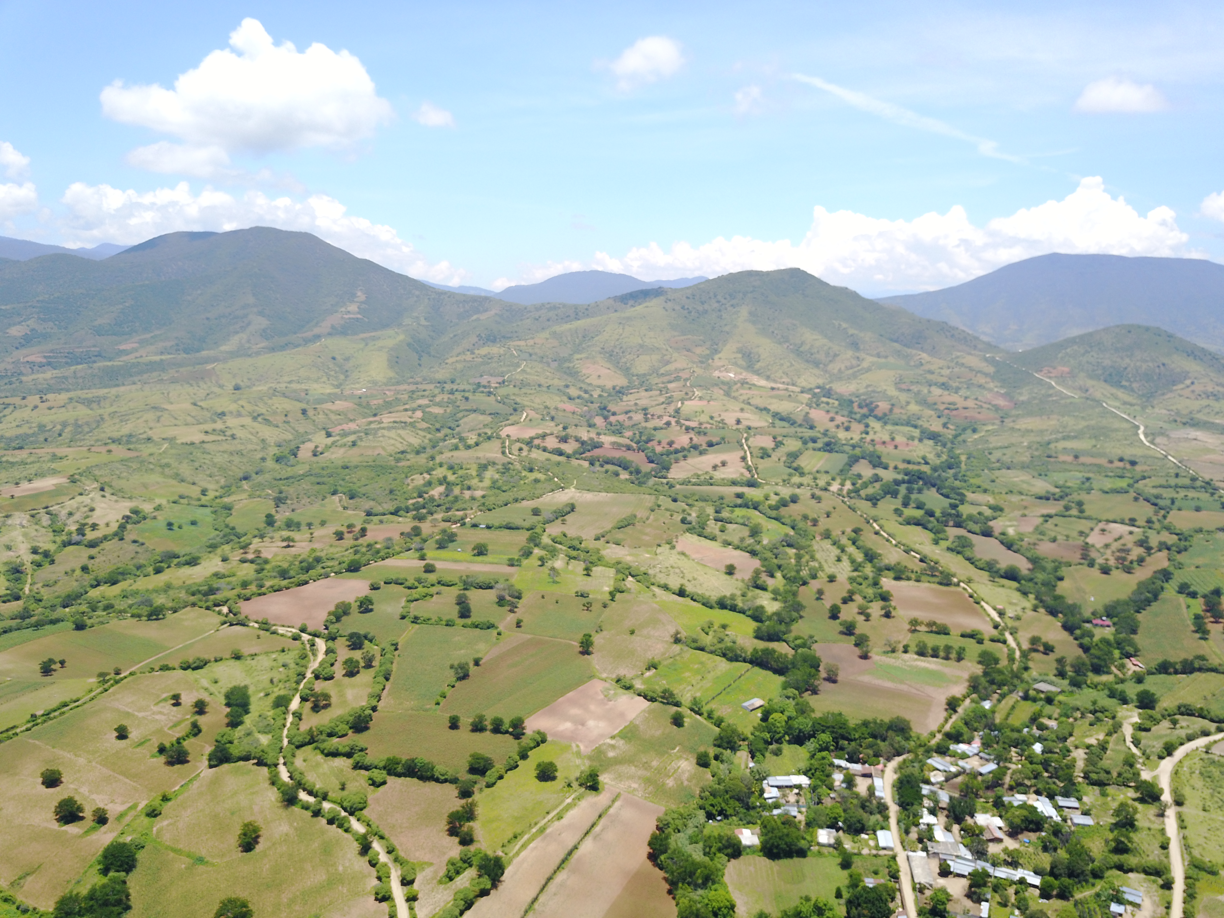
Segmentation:
[(509, 635), (442, 703), (443, 714), (530, 715), (588, 682), (589, 657), (568, 641)]

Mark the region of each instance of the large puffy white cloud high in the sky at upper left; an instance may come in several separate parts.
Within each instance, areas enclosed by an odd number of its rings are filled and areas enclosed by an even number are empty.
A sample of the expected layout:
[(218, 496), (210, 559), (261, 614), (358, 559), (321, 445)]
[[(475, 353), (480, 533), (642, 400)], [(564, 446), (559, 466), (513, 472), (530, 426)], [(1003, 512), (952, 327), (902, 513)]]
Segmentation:
[[(350, 147), (392, 116), (390, 104), (378, 97), (361, 61), (345, 50), (319, 43), (305, 51), (289, 42), (275, 45), (252, 18), (242, 20), (229, 43), (229, 49), (212, 51), (182, 73), (173, 89), (116, 81), (102, 91), (103, 113), (206, 151), (173, 154), (186, 164), (215, 159), (209, 149)], [(164, 165), (171, 153), (142, 155)]]

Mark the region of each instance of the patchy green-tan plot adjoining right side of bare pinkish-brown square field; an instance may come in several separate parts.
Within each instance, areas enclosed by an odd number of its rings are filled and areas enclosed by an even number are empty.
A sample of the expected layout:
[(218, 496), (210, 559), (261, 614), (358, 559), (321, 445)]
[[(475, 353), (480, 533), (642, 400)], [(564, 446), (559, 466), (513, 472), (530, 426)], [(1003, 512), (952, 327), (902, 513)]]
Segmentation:
[(688, 716), (673, 727), (674, 707), (652, 704), (616, 736), (597, 745), (589, 761), (617, 787), (661, 807), (676, 807), (696, 797), (709, 780), (694, 756), (709, 749), (717, 731)]

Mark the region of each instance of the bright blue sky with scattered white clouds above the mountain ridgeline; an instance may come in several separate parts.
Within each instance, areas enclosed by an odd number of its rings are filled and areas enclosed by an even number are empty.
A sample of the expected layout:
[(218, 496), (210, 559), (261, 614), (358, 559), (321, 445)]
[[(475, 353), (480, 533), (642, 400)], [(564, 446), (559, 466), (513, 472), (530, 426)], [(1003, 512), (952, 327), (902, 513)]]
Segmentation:
[(1222, 39), (1207, 4), (0, 2), (0, 235), (282, 225), (485, 286), (1220, 259)]

